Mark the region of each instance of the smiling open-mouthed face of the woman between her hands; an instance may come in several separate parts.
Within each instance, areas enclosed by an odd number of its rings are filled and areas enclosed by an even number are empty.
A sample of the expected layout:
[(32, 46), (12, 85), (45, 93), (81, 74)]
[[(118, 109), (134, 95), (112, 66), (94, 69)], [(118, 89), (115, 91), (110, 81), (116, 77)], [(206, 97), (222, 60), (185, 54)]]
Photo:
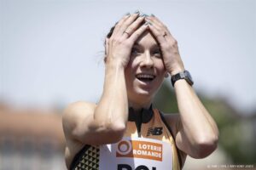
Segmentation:
[[(152, 34), (145, 31), (131, 49), (131, 59), (125, 68), (128, 98), (154, 97), (166, 74), (160, 47)], [(133, 97), (132, 97), (133, 96)]]

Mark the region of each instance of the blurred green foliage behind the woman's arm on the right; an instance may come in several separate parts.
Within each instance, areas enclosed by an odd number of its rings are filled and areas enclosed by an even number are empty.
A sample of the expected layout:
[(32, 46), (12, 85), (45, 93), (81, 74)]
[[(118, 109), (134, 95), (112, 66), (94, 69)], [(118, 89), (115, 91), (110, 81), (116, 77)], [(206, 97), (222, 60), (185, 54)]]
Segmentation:
[[(171, 94), (171, 97), (167, 94)], [(210, 98), (197, 92), (203, 105), (217, 122), (219, 130), (218, 154), (209, 161), (189, 161), (186, 169), (207, 168), (214, 165), (254, 165), (256, 163), (256, 111), (244, 113), (236, 111), (224, 98)], [(167, 113), (177, 113), (177, 99), (173, 88), (163, 84), (154, 100), (155, 106)], [(217, 150), (217, 151), (218, 151)], [(217, 152), (215, 151), (215, 152)], [(212, 154), (213, 155), (213, 154)], [(210, 156), (211, 157), (211, 156)], [(194, 166), (194, 167), (190, 167)], [(219, 169), (221, 169), (219, 167)], [(227, 169), (227, 168), (225, 168)], [(249, 168), (248, 168), (249, 169)]]

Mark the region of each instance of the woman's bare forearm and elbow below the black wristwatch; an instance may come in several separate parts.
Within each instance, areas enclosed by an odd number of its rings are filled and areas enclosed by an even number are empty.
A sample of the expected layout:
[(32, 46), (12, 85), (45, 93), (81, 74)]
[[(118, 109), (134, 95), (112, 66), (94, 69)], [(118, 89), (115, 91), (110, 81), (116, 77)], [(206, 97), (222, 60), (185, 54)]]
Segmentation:
[(218, 127), (185, 80), (175, 82), (174, 87), (180, 113), (177, 147), (189, 156), (206, 157), (217, 147)]

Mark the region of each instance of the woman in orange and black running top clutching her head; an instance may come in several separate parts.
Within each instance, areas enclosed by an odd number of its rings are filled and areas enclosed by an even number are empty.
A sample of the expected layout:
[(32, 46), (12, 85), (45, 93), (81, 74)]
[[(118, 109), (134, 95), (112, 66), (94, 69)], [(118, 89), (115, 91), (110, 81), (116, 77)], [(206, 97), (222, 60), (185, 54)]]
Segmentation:
[[(105, 41), (105, 82), (97, 104), (76, 102), (63, 115), (68, 169), (181, 169), (187, 155), (217, 148), (218, 127), (192, 88), (177, 41), (153, 14), (126, 14)], [(179, 114), (152, 106), (168, 74)]]

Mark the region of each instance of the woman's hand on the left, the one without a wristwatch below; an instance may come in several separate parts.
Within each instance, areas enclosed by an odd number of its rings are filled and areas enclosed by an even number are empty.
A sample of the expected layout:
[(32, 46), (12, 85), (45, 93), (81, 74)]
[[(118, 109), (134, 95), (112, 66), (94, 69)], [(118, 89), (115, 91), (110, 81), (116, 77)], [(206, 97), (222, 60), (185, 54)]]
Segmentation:
[(112, 36), (106, 38), (107, 65), (123, 68), (128, 65), (134, 42), (148, 28), (147, 24), (141, 26), (144, 19), (145, 17), (139, 16), (139, 14), (129, 14), (119, 20)]

